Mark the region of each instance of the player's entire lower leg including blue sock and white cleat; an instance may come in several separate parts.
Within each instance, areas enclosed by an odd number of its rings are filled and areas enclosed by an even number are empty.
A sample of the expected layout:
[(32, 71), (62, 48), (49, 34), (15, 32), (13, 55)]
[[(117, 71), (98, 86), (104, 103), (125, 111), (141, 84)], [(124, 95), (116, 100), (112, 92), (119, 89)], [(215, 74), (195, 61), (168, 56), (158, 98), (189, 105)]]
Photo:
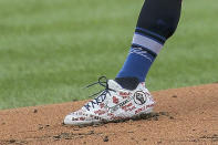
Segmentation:
[(154, 106), (153, 96), (144, 83), (139, 82), (144, 82), (156, 55), (174, 33), (179, 13), (180, 0), (146, 0), (131, 52), (115, 81), (100, 77), (97, 83), (105, 90), (81, 110), (66, 115), (64, 123), (102, 123), (150, 113)]

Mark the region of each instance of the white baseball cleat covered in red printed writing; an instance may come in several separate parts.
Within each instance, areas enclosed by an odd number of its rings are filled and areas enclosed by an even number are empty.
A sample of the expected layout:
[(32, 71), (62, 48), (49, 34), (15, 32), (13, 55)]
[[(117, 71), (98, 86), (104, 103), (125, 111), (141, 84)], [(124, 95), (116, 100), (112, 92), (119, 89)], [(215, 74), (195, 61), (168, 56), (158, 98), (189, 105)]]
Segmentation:
[(81, 110), (66, 115), (64, 124), (92, 125), (125, 121), (153, 111), (155, 102), (145, 83), (139, 83), (133, 91), (123, 89), (115, 81), (106, 80), (105, 76), (100, 77), (97, 83), (105, 90), (97, 93), (98, 96), (87, 102)]

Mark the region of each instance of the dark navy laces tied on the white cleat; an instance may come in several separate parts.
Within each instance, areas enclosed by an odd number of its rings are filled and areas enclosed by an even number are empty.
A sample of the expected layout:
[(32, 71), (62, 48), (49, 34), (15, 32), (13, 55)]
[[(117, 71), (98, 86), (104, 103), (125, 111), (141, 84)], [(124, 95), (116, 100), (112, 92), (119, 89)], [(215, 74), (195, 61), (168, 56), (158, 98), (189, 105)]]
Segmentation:
[(98, 77), (98, 81), (97, 82), (95, 82), (95, 83), (90, 84), (90, 85), (86, 86), (86, 89), (87, 89), (87, 87), (91, 87), (93, 85), (100, 84), (100, 85), (102, 85), (104, 87), (104, 90), (102, 90), (102, 91), (100, 91), (97, 93), (94, 93), (93, 95), (90, 96), (90, 97), (93, 97), (93, 96), (98, 95), (93, 101), (90, 101), (87, 104), (84, 105), (84, 107), (87, 111), (90, 111), (90, 107), (93, 107), (94, 108), (94, 105), (95, 104), (96, 105), (100, 105), (101, 103), (103, 103), (104, 100), (106, 99), (106, 94), (110, 94), (111, 95), (110, 91), (115, 92), (115, 90), (112, 90), (112, 89), (108, 87), (108, 83), (107, 82), (108, 82), (108, 80), (106, 79), (106, 76), (101, 76), (101, 77)]

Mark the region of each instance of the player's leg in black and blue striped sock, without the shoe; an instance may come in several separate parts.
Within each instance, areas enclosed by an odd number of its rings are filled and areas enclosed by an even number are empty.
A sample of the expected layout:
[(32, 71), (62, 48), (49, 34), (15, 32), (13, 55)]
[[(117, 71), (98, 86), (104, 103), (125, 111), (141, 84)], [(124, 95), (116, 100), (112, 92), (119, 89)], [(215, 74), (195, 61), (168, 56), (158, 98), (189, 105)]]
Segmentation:
[(134, 90), (147, 72), (166, 40), (175, 32), (181, 0), (145, 0), (129, 54), (115, 79), (123, 87)]

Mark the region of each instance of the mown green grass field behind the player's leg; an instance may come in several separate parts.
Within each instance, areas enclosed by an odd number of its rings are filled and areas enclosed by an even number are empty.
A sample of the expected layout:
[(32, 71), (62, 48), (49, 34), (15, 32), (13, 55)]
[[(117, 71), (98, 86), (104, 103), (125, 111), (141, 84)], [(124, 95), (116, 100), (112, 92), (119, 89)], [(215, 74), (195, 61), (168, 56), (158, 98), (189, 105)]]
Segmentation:
[[(216, 0), (184, 0), (150, 91), (218, 81)], [(127, 55), (143, 0), (0, 0), (0, 108), (87, 99)]]

